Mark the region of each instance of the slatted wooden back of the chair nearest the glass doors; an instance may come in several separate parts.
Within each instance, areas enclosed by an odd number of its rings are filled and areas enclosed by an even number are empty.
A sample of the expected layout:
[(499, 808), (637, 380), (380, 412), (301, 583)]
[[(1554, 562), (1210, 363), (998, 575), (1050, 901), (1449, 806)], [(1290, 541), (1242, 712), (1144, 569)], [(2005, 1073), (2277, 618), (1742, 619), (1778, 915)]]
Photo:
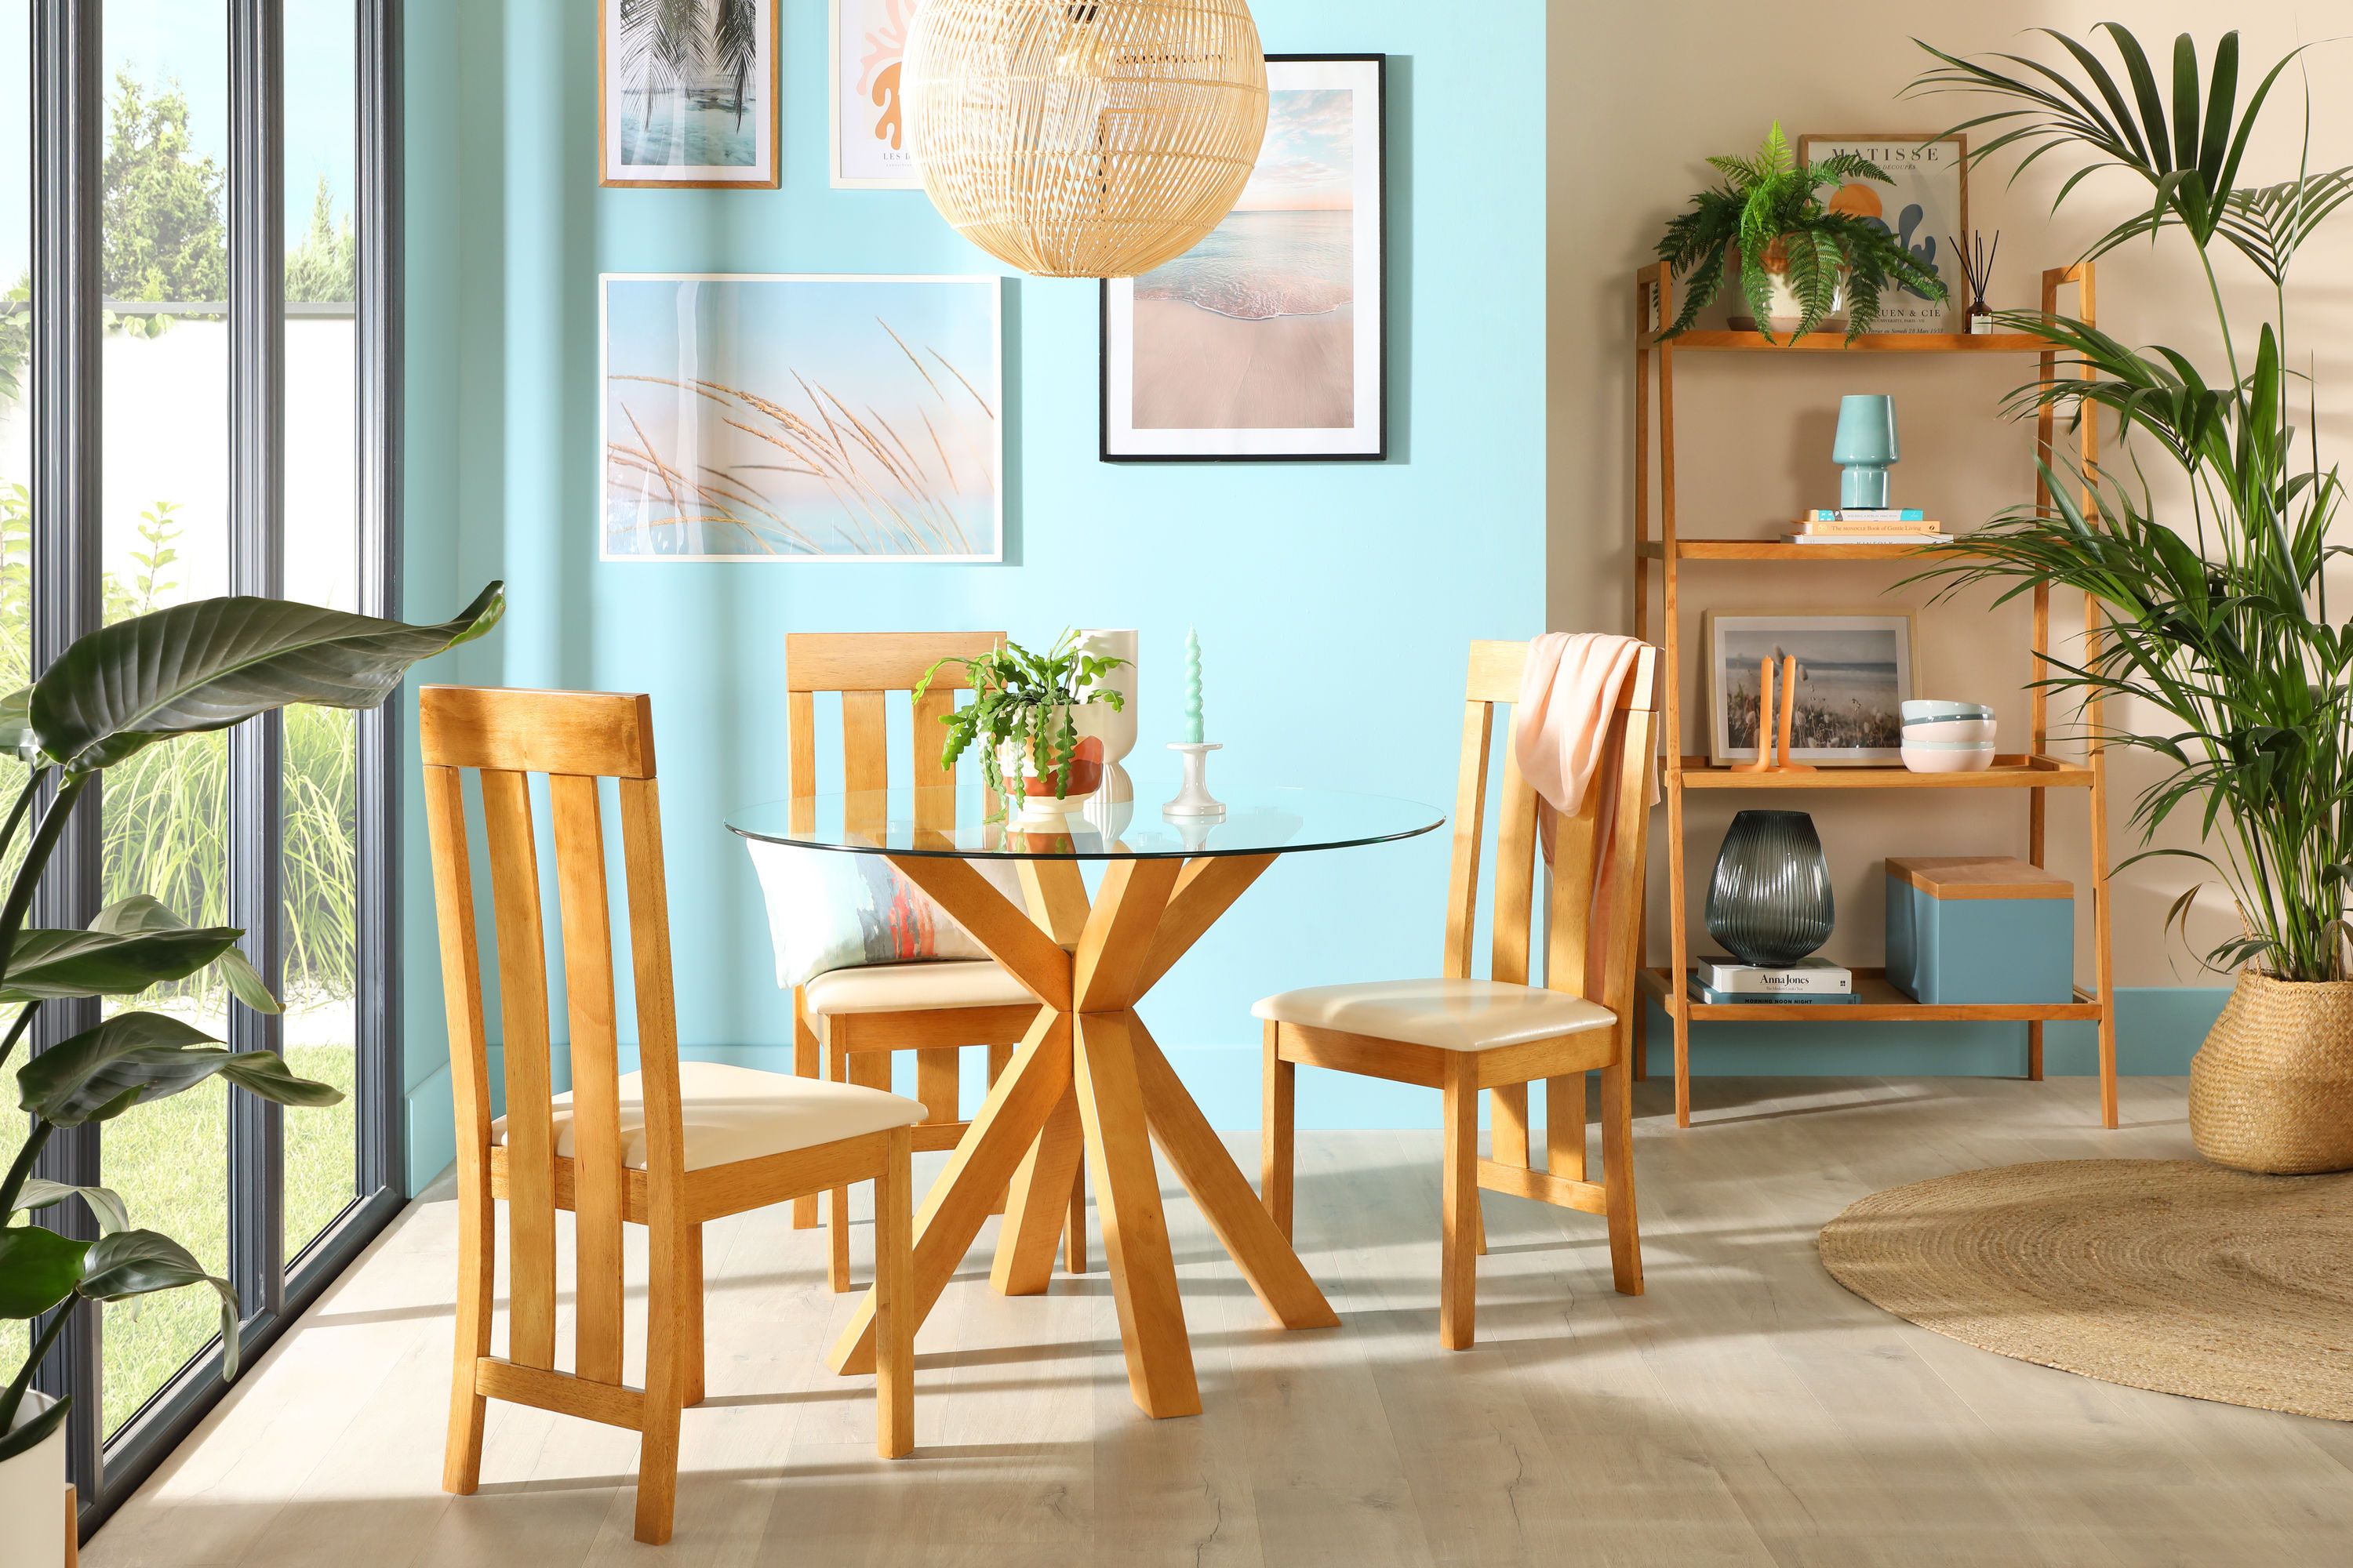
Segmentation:
[[(682, 1225), (685, 1135), (678, 1105), (678, 1025), (671, 919), (661, 870), (654, 715), (642, 693), (426, 686), (419, 693), (433, 898), (440, 910), (449, 1084), (459, 1121), (459, 1182), (489, 1182), (489, 1044), (473, 912), (461, 776), (482, 785), (482, 827), (506, 1053), (508, 1359), (555, 1371), (555, 1211), (576, 1211), (574, 1375), (621, 1382), (621, 1060), (614, 1006), (612, 898), (598, 780), (619, 780), (621, 865), (638, 994), (645, 1084), (645, 1220)], [(555, 1154), (546, 912), (529, 776), (548, 778), (558, 919), (565, 938), (565, 1016), (572, 1060), (569, 1192)], [(560, 1204), (569, 1197), (569, 1204)]]

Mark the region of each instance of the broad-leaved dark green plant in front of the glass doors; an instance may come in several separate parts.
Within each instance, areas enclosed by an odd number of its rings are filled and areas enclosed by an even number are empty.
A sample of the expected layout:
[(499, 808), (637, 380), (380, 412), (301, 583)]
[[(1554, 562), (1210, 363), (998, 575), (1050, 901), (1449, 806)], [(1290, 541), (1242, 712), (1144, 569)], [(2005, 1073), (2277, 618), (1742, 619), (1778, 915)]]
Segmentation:
[[(311, 703), (374, 708), (421, 658), (487, 632), (504, 609), (492, 583), (454, 621), (407, 625), (285, 599), (200, 599), (120, 621), (66, 649), (31, 686), (0, 698), (0, 750), (26, 764), (0, 823), (0, 853), (31, 835), (0, 905), (0, 1037), (7, 1067), (49, 1001), (136, 997), (151, 985), (214, 971), (247, 1006), (275, 1013), (268, 985), (238, 950), (235, 926), (188, 926), (153, 898), (108, 905), (82, 931), (26, 926), (33, 889), (75, 804), (108, 766), (176, 736), (228, 729), (259, 712)], [(226, 1079), (278, 1105), (332, 1105), (341, 1091), (296, 1077), (275, 1051), (231, 1051), (167, 1013), (125, 1011), (16, 1067), (31, 1131), (0, 1173), (0, 1319), (45, 1319), (24, 1366), (0, 1387), (0, 1460), (40, 1443), (66, 1418), (61, 1399), (16, 1427), (33, 1368), (78, 1300), (113, 1302), (181, 1286), (221, 1298), (221, 1368), (238, 1371), (238, 1295), (172, 1237), (132, 1225), (106, 1187), (33, 1175), (59, 1128), (111, 1121), (136, 1105)], [(99, 1237), (82, 1241), (35, 1215), (82, 1204)]]

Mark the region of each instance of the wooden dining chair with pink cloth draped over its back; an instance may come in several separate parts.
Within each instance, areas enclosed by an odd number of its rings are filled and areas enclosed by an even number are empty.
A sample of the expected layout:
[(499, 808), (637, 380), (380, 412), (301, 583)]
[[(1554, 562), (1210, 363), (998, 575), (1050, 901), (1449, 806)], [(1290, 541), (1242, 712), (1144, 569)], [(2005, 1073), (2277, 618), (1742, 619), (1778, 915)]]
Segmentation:
[[(1440, 980), (1320, 985), (1266, 997), (1266, 1084), (1261, 1199), (1292, 1234), (1292, 1103), (1301, 1065), (1360, 1072), (1438, 1088), (1445, 1098), (1442, 1248), (1438, 1338), (1468, 1349), (1475, 1319), (1473, 1258), (1485, 1251), (1478, 1194), (1600, 1213), (1609, 1222), (1609, 1267), (1621, 1295), (1642, 1293), (1642, 1244), (1633, 1215), (1633, 1084), (1628, 1039), (1640, 961), (1642, 856), (1649, 842), (1649, 769), (1657, 745), (1657, 651), (1642, 649), (1609, 717), (1614, 776), (1595, 773), (1577, 816), (1560, 818), (1553, 851), (1551, 938), (1544, 985), (1527, 983), (1537, 886), (1537, 792), (1504, 745), (1504, 797), (1494, 849), (1494, 945), (1489, 978), (1471, 976), (1478, 903), (1480, 818), (1487, 806), (1487, 752), (1499, 705), (1520, 693), (1525, 642), (1473, 642), (1464, 708), (1461, 778), (1454, 797), (1454, 856), (1447, 872), (1447, 950)], [(1598, 823), (1617, 799), (1612, 844)], [(1605, 886), (1595, 886), (1595, 875)], [(1595, 900), (1600, 893), (1600, 900)], [(1593, 931), (1593, 910), (1612, 912)], [(1586, 994), (1586, 950), (1602, 943), (1600, 994)], [(1586, 1072), (1602, 1074), (1602, 1180), (1586, 1175)], [(1544, 1079), (1546, 1164), (1527, 1140), (1527, 1086)], [(1478, 1152), (1478, 1095), (1494, 1093), (1494, 1159)]]

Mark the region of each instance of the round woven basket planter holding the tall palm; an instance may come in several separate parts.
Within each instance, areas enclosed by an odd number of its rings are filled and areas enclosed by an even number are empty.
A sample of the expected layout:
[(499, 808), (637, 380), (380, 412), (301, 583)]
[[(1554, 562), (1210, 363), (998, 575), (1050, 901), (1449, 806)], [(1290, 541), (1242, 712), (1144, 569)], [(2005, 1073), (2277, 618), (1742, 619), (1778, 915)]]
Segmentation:
[(2353, 1171), (2353, 980), (2242, 971), (2191, 1058), (2191, 1143), (2235, 1171)]

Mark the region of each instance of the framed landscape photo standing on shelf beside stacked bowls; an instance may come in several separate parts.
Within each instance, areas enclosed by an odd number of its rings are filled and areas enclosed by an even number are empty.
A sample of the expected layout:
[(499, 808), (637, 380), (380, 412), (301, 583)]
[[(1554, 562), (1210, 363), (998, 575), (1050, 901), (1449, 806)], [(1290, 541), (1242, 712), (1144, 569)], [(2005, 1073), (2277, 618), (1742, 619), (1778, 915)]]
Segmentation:
[(1758, 759), (1758, 677), (1767, 658), (1779, 670), (1788, 654), (1798, 658), (1791, 762), (1904, 762), (1904, 703), (1913, 696), (1911, 611), (1744, 616), (1711, 609), (1701, 618), (1701, 646), (1708, 762), (1715, 766)]

